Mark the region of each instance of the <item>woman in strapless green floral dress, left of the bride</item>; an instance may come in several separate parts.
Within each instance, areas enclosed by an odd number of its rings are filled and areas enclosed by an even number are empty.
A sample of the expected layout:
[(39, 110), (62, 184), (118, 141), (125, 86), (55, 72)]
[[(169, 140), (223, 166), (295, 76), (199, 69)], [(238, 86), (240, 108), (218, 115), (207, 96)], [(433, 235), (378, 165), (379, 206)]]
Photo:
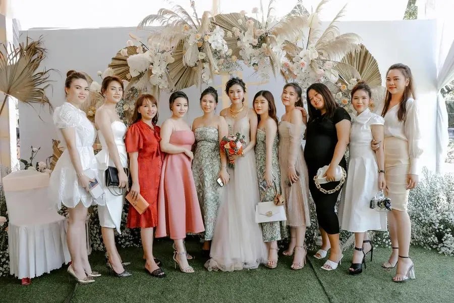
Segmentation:
[(192, 131), (195, 135), (194, 160), (192, 173), (197, 189), (197, 195), (202, 210), (205, 224), (203, 235), (204, 255), (209, 255), (210, 242), (216, 225), (217, 211), (222, 186), (229, 182), (227, 161), (225, 154), (219, 148), (219, 142), (228, 133), (227, 123), (221, 116), (215, 115), (217, 105), (217, 92), (213, 87), (208, 87), (200, 95), (200, 106), (203, 116), (194, 119)]

